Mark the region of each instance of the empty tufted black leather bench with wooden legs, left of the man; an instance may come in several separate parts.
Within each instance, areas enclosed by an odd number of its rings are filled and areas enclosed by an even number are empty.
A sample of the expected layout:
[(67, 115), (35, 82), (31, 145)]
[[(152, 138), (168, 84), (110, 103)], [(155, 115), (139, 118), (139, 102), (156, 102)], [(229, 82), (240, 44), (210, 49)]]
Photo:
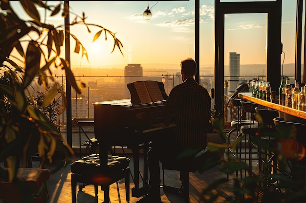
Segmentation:
[[(104, 190), (104, 203), (109, 203), (109, 185), (124, 178), (126, 200), (130, 202), (130, 159), (126, 157), (108, 155), (107, 166), (100, 166), (99, 154), (91, 154), (73, 162), (71, 167), (72, 203), (76, 202), (77, 183), (94, 185), (95, 195), (98, 195), (98, 186)], [(82, 190), (84, 186), (80, 185)], [(118, 192), (119, 195), (119, 192)], [(120, 198), (120, 197), (119, 197)]]

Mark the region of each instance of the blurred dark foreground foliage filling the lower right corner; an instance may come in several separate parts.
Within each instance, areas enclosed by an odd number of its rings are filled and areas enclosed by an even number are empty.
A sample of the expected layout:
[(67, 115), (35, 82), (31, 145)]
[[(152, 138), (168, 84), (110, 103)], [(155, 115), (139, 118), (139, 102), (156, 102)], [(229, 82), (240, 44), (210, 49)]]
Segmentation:
[[(259, 119), (260, 121), (260, 119)], [(226, 138), (224, 133), (222, 122), (218, 119), (214, 120), (216, 128), (219, 130), (219, 136), (222, 139)], [(294, 131), (294, 129), (285, 129), (287, 131)], [(278, 132), (268, 133), (266, 136), (270, 136), (271, 139), (275, 139), (281, 142), (290, 141), (288, 137), (284, 138)], [(240, 136), (231, 144), (215, 144), (208, 143), (208, 148), (211, 151), (217, 151), (220, 149), (232, 148), (235, 150), (244, 136)], [(275, 141), (274, 140), (274, 141)], [(263, 166), (265, 169), (275, 167), (273, 162), (277, 162), (277, 173), (264, 173), (264, 174), (252, 174), (249, 165), (243, 160), (239, 160), (232, 156), (230, 153), (226, 153), (224, 160), (218, 160), (215, 163), (211, 163), (210, 166), (205, 166), (200, 172), (211, 168), (212, 166), (219, 165), (219, 171), (228, 174), (229, 178), (220, 178), (203, 189), (202, 199), (205, 203), (214, 203), (217, 199), (220, 202), (220, 196), (224, 199), (224, 203), (255, 203), (258, 201), (258, 193), (261, 193), (261, 203), (302, 203), (306, 198), (305, 187), (305, 167), (306, 162), (305, 154), (292, 162), (298, 161), (298, 168), (302, 170), (303, 174), (299, 177), (300, 185), (297, 180), (292, 177), (292, 171), (288, 171), (288, 153), (282, 148), (277, 148), (275, 145), (271, 145), (271, 140), (264, 139), (260, 136), (252, 136), (251, 142), (256, 146), (260, 146), (263, 151), (273, 151), (278, 154), (274, 156), (273, 160), (264, 161)], [(236, 171), (244, 173), (246, 176), (240, 180), (240, 177), (236, 176)], [(292, 172), (292, 173), (291, 173)], [(296, 171), (295, 171), (296, 172)], [(300, 174), (301, 175), (301, 174)], [(227, 190), (228, 193), (218, 193), (216, 191)]]

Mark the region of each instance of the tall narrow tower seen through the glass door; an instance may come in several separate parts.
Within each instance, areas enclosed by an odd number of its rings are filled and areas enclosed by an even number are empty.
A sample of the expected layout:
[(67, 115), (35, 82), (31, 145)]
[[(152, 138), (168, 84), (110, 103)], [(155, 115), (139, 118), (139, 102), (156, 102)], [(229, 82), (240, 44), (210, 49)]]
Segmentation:
[(239, 85), (240, 76), (240, 54), (236, 52), (229, 53), (229, 80), (228, 80), (228, 95), (232, 95)]

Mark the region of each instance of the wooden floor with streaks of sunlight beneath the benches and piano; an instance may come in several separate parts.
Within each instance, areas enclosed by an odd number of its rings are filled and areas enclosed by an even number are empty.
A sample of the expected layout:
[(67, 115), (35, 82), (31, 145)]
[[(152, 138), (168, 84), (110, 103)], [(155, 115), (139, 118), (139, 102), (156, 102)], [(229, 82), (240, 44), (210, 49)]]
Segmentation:
[[(75, 158), (75, 160), (78, 157)], [(73, 161), (74, 159), (72, 159)], [(132, 159), (130, 167), (132, 166)], [(70, 162), (71, 163), (71, 162)], [(66, 167), (61, 170), (52, 173), (50, 179), (47, 181), (47, 187), (49, 192), (48, 203), (70, 203), (71, 202), (71, 172), (70, 172), (70, 163), (68, 162)], [(46, 166), (47, 168), (48, 166)], [(52, 170), (52, 168), (50, 168)], [(131, 171), (133, 168), (131, 167)], [(161, 170), (162, 172), (162, 170)], [(168, 185), (180, 186), (179, 181), (179, 172), (177, 171), (165, 171), (165, 180)], [(201, 198), (203, 197), (201, 192), (209, 183), (215, 179), (226, 177), (225, 174), (219, 172), (218, 166), (205, 171), (204, 173), (190, 173), (190, 203), (204, 203)], [(162, 176), (161, 176), (162, 179)], [(122, 203), (126, 203), (124, 181), (118, 182), (120, 199)], [(132, 188), (133, 182), (131, 179), (130, 188)], [(100, 189), (100, 188), (99, 188)], [(218, 191), (220, 195), (224, 191)], [(130, 190), (131, 194), (131, 190)], [(225, 195), (225, 193), (224, 193)], [(131, 197), (131, 195), (130, 195)], [(141, 198), (130, 198), (130, 203), (136, 203)], [(183, 199), (171, 193), (164, 193), (161, 188), (161, 199), (163, 203), (183, 203)], [(224, 198), (220, 198), (216, 203), (223, 203)], [(103, 191), (99, 190), (98, 201), (94, 195), (94, 188), (92, 185), (87, 185), (82, 190), (77, 191), (77, 202), (78, 203), (103, 203)], [(120, 203), (117, 193), (117, 185), (113, 184), (110, 186), (110, 202), (111, 203)]]

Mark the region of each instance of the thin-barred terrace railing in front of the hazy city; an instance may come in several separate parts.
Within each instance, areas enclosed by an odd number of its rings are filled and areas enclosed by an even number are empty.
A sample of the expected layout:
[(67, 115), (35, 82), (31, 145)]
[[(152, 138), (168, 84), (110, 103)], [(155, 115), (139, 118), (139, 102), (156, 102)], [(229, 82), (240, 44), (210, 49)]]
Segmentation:
[[(254, 76), (244, 76), (244, 77), (224, 77), (224, 121), (230, 122), (237, 119), (237, 109), (232, 105), (227, 105), (230, 94), (228, 92), (229, 80), (235, 80), (237, 86), (240, 82), (247, 82), (252, 80)], [(264, 80), (264, 76), (257, 76), (255, 78), (260, 78)], [(66, 87), (65, 76), (56, 76), (56, 79)], [(146, 75), (146, 76), (76, 76), (78, 81), (85, 82), (87, 88), (83, 89), (82, 94), (77, 94), (72, 90), (71, 98), (71, 109), (72, 118), (75, 119), (92, 119), (93, 118), (93, 105), (92, 103), (97, 101), (109, 101), (109, 100), (119, 100), (131, 98), (130, 92), (127, 88), (127, 84), (139, 81), (139, 80), (155, 80), (162, 81), (165, 84), (165, 91), (169, 95), (170, 91), (175, 85), (182, 82), (180, 74), (172, 75)], [(213, 75), (201, 75), (200, 84), (205, 87), (209, 93), (211, 89), (214, 88), (214, 76)], [(237, 87), (236, 86), (236, 87)], [(35, 87), (35, 86), (34, 86)], [(236, 89), (236, 87), (234, 87)], [(232, 87), (233, 88), (233, 87)], [(35, 88), (34, 88), (35, 89)], [(235, 90), (234, 89), (234, 90)], [(35, 89), (37, 91), (37, 89)], [(35, 94), (34, 94), (35, 95)], [(212, 95), (211, 95), (212, 96)], [(212, 99), (212, 107), (214, 106), (214, 99)], [(60, 120), (61, 133), (66, 138), (66, 112), (63, 112), (57, 118)], [(85, 129), (90, 138), (94, 137), (93, 128)], [(79, 146), (79, 128), (76, 124), (72, 124), (72, 146)], [(81, 143), (84, 144), (87, 141), (86, 136), (81, 137)]]

